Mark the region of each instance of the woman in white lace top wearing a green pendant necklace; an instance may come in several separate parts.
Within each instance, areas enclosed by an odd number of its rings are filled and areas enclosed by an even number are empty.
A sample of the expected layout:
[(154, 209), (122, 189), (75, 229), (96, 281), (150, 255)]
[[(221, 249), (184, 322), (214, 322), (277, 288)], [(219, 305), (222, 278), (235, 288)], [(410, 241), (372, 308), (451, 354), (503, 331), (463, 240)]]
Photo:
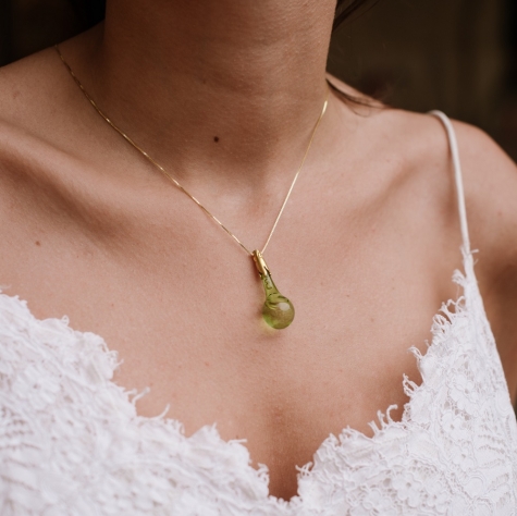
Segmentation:
[[(329, 94), (334, 11), (109, 0), (1, 71), (3, 515), (516, 514), (517, 170), (454, 122), (461, 183), (446, 120)], [(264, 253), (288, 328), (58, 53), (247, 249), (308, 150)]]

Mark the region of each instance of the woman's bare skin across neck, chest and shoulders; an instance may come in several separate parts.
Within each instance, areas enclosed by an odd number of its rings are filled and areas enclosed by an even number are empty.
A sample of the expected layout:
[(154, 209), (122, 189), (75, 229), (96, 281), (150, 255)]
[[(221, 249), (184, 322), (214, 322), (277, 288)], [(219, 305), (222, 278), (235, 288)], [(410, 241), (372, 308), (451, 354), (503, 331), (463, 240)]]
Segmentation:
[[(325, 95), (334, 2), (109, 0), (61, 46), (90, 95), (248, 247), (266, 241)], [(333, 79), (336, 84), (337, 82)], [(341, 88), (350, 89), (341, 84)], [(270, 492), (350, 426), (407, 402), (433, 315), (460, 291), (454, 177), (431, 116), (332, 95), (266, 253), (296, 307), (259, 323), (253, 261), (103, 122), (46, 50), (0, 71), (1, 284), (102, 335), (115, 381), (192, 434), (247, 439)], [(476, 272), (517, 397), (517, 170), (455, 122)], [(218, 139), (218, 142), (217, 142)]]

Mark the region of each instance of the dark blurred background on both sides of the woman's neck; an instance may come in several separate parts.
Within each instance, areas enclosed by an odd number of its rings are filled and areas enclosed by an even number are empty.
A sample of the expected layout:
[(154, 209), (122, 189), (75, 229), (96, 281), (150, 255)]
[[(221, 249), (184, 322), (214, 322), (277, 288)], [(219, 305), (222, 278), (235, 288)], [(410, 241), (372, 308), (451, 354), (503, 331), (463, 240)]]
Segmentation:
[[(85, 5), (0, 0), (0, 64), (86, 28)], [(517, 0), (381, 0), (338, 29), (329, 70), (392, 106), (479, 125), (517, 160)]]

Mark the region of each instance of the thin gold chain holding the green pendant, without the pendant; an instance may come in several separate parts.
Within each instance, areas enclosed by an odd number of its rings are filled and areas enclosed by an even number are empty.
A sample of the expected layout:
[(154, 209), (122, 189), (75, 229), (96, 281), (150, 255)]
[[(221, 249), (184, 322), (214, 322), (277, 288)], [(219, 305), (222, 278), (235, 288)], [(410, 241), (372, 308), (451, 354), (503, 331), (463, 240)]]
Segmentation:
[[(78, 77), (75, 75), (75, 73), (72, 70), (72, 67), (70, 66), (70, 64), (65, 61), (63, 54), (61, 53), (61, 50), (60, 50), (59, 46), (56, 45), (54, 48), (56, 48), (56, 51), (58, 52), (59, 57), (61, 58), (61, 61), (66, 66), (66, 70), (70, 72), (70, 75), (75, 81), (75, 84), (77, 84), (77, 86), (83, 91), (84, 96), (88, 99), (88, 101), (95, 108), (95, 110), (106, 120), (106, 122), (108, 122), (127, 143), (130, 143), (136, 150), (138, 150), (138, 152), (140, 152), (150, 163), (152, 163), (169, 181), (171, 181), (177, 188), (180, 188), (185, 195), (187, 195), (192, 200), (194, 200), (194, 202), (196, 202), (196, 205), (199, 206), (199, 208), (201, 208), (201, 210), (205, 211), (205, 213), (207, 213), (208, 217), (210, 217), (212, 220), (214, 220), (248, 255), (254, 256), (254, 254), (214, 214), (212, 214), (207, 208), (205, 208), (205, 206), (202, 206), (201, 202), (199, 202), (199, 200), (197, 200), (196, 197), (194, 197), (182, 184), (180, 184), (180, 182), (177, 180), (175, 180), (160, 163), (155, 161), (141, 147), (139, 147), (135, 142), (133, 142), (133, 139), (131, 139), (130, 136), (127, 136), (121, 128), (119, 128), (111, 121), (111, 119), (109, 116), (107, 116), (103, 113), (103, 111), (97, 106), (96, 101), (89, 96), (88, 91), (86, 91), (85, 87), (83, 86), (83, 83), (81, 83)], [(266, 241), (266, 244), (264, 244), (262, 250), (260, 251), (261, 254), (263, 254), (263, 251), (268, 247), (268, 244), (269, 244), (271, 237), (273, 236), (273, 232), (276, 229), (276, 225), (280, 221), (280, 218), (282, 217), (284, 208), (285, 208), (285, 206), (287, 204), (287, 200), (291, 196), (291, 193), (293, 192), (294, 185), (296, 184), (296, 180), (298, 179), (298, 175), (299, 175), (299, 173), (300, 173), (300, 171), (304, 167), (305, 160), (307, 159), (307, 155), (309, 153), (310, 147), (312, 145), (312, 140), (315, 139), (315, 136), (316, 136), (316, 132), (318, 131), (318, 127), (321, 123), (321, 120), (323, 119), (323, 115), (325, 114), (327, 107), (329, 105), (329, 91), (330, 90), (328, 88), (327, 89), (327, 97), (325, 97), (325, 100), (323, 102), (323, 108), (321, 109), (321, 113), (320, 113), (320, 115), (318, 118), (318, 121), (316, 122), (315, 127), (312, 130), (312, 133), (310, 135), (310, 139), (309, 139), (309, 144), (307, 145), (307, 149), (305, 150), (304, 157), (303, 157), (301, 162), (298, 167), (298, 170), (296, 171), (294, 180), (291, 183), (291, 187), (287, 192), (287, 195), (285, 196), (285, 199), (282, 202), (279, 214), (276, 216), (276, 219), (274, 220), (274, 224), (273, 224), (273, 228), (271, 229), (271, 231), (269, 233), (268, 239)]]

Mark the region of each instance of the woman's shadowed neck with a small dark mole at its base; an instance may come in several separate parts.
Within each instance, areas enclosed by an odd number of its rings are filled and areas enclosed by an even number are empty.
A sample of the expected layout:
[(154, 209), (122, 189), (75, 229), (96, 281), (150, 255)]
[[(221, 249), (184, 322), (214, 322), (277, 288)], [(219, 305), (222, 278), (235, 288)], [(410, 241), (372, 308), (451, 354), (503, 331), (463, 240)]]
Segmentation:
[(93, 95), (180, 175), (292, 170), (325, 96), (334, 4), (108, 0)]

